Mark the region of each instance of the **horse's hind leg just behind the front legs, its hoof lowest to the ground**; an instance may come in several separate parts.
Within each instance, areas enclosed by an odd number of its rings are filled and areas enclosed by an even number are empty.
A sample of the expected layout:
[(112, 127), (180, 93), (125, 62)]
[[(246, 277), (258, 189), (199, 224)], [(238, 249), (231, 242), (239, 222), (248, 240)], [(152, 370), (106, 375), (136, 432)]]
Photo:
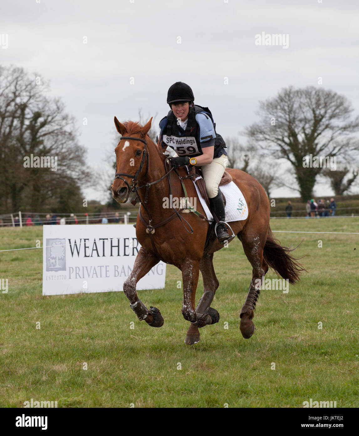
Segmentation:
[(216, 290), (218, 289), (219, 286), (213, 268), (213, 253), (206, 254), (203, 256), (203, 258), (200, 261), (200, 272), (202, 273), (202, 277), (203, 277), (203, 295), (200, 299), (200, 302), (197, 304), (196, 314), (198, 315), (198, 314), (207, 313), (210, 315), (210, 317), (206, 317), (203, 320), (203, 325), (202, 324), (190, 325), (190, 328), (187, 331), (187, 335), (185, 339), (186, 344), (195, 344), (200, 340), (200, 331), (198, 330), (199, 327), (204, 327), (207, 324), (214, 324), (219, 321), (219, 314), (217, 310), (212, 309), (210, 307), (213, 301), (214, 294), (216, 293)]

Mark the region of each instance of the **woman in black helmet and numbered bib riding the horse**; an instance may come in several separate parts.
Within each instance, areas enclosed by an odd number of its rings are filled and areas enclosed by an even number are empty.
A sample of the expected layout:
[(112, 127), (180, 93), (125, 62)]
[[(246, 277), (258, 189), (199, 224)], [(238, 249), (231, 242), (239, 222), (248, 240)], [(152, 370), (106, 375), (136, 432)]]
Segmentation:
[[(175, 168), (190, 164), (201, 167), (211, 209), (224, 221), (224, 201), (218, 185), (227, 166), (225, 144), (216, 141), (210, 110), (193, 102), (192, 89), (186, 83), (176, 82), (169, 87), (167, 103), (171, 110), (159, 122), (156, 142), (160, 140), (167, 148)], [(217, 226), (217, 238), (220, 243), (229, 239), (222, 223)]]

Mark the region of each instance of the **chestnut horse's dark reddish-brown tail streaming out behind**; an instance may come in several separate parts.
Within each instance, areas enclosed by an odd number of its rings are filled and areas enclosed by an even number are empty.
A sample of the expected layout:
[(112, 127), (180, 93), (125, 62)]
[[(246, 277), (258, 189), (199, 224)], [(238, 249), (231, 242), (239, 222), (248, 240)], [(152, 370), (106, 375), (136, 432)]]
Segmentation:
[(288, 279), (289, 283), (294, 284), (300, 280), (301, 272), (307, 270), (297, 262), (299, 259), (295, 259), (289, 254), (298, 245), (291, 249), (290, 247), (282, 247), (280, 244), (278, 239), (274, 237), (271, 227), (269, 227), (267, 241), (263, 249), (263, 258), (278, 275), (283, 277), (283, 279)]

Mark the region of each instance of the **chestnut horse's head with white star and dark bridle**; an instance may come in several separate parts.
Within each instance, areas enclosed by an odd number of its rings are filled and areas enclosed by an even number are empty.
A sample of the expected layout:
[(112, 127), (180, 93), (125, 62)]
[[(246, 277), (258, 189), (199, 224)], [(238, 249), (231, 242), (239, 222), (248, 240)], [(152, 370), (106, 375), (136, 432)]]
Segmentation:
[(129, 199), (131, 188), (147, 173), (149, 165), (149, 136), (152, 117), (145, 126), (129, 121), (122, 124), (115, 117), (115, 126), (122, 135), (116, 153), (116, 176), (111, 186), (112, 197), (118, 203)]

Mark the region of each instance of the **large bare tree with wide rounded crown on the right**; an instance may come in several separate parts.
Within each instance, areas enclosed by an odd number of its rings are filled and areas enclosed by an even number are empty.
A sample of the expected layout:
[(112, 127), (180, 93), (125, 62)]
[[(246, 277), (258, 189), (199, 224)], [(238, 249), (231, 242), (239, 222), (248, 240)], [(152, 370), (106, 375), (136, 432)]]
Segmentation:
[(274, 158), (285, 158), (295, 170), (303, 201), (312, 197), (320, 167), (304, 167), (306, 157), (348, 157), (359, 150), (349, 135), (359, 128), (359, 117), (350, 119), (348, 100), (335, 92), (309, 86), (282, 89), (277, 97), (260, 102), (259, 123), (246, 129)]

